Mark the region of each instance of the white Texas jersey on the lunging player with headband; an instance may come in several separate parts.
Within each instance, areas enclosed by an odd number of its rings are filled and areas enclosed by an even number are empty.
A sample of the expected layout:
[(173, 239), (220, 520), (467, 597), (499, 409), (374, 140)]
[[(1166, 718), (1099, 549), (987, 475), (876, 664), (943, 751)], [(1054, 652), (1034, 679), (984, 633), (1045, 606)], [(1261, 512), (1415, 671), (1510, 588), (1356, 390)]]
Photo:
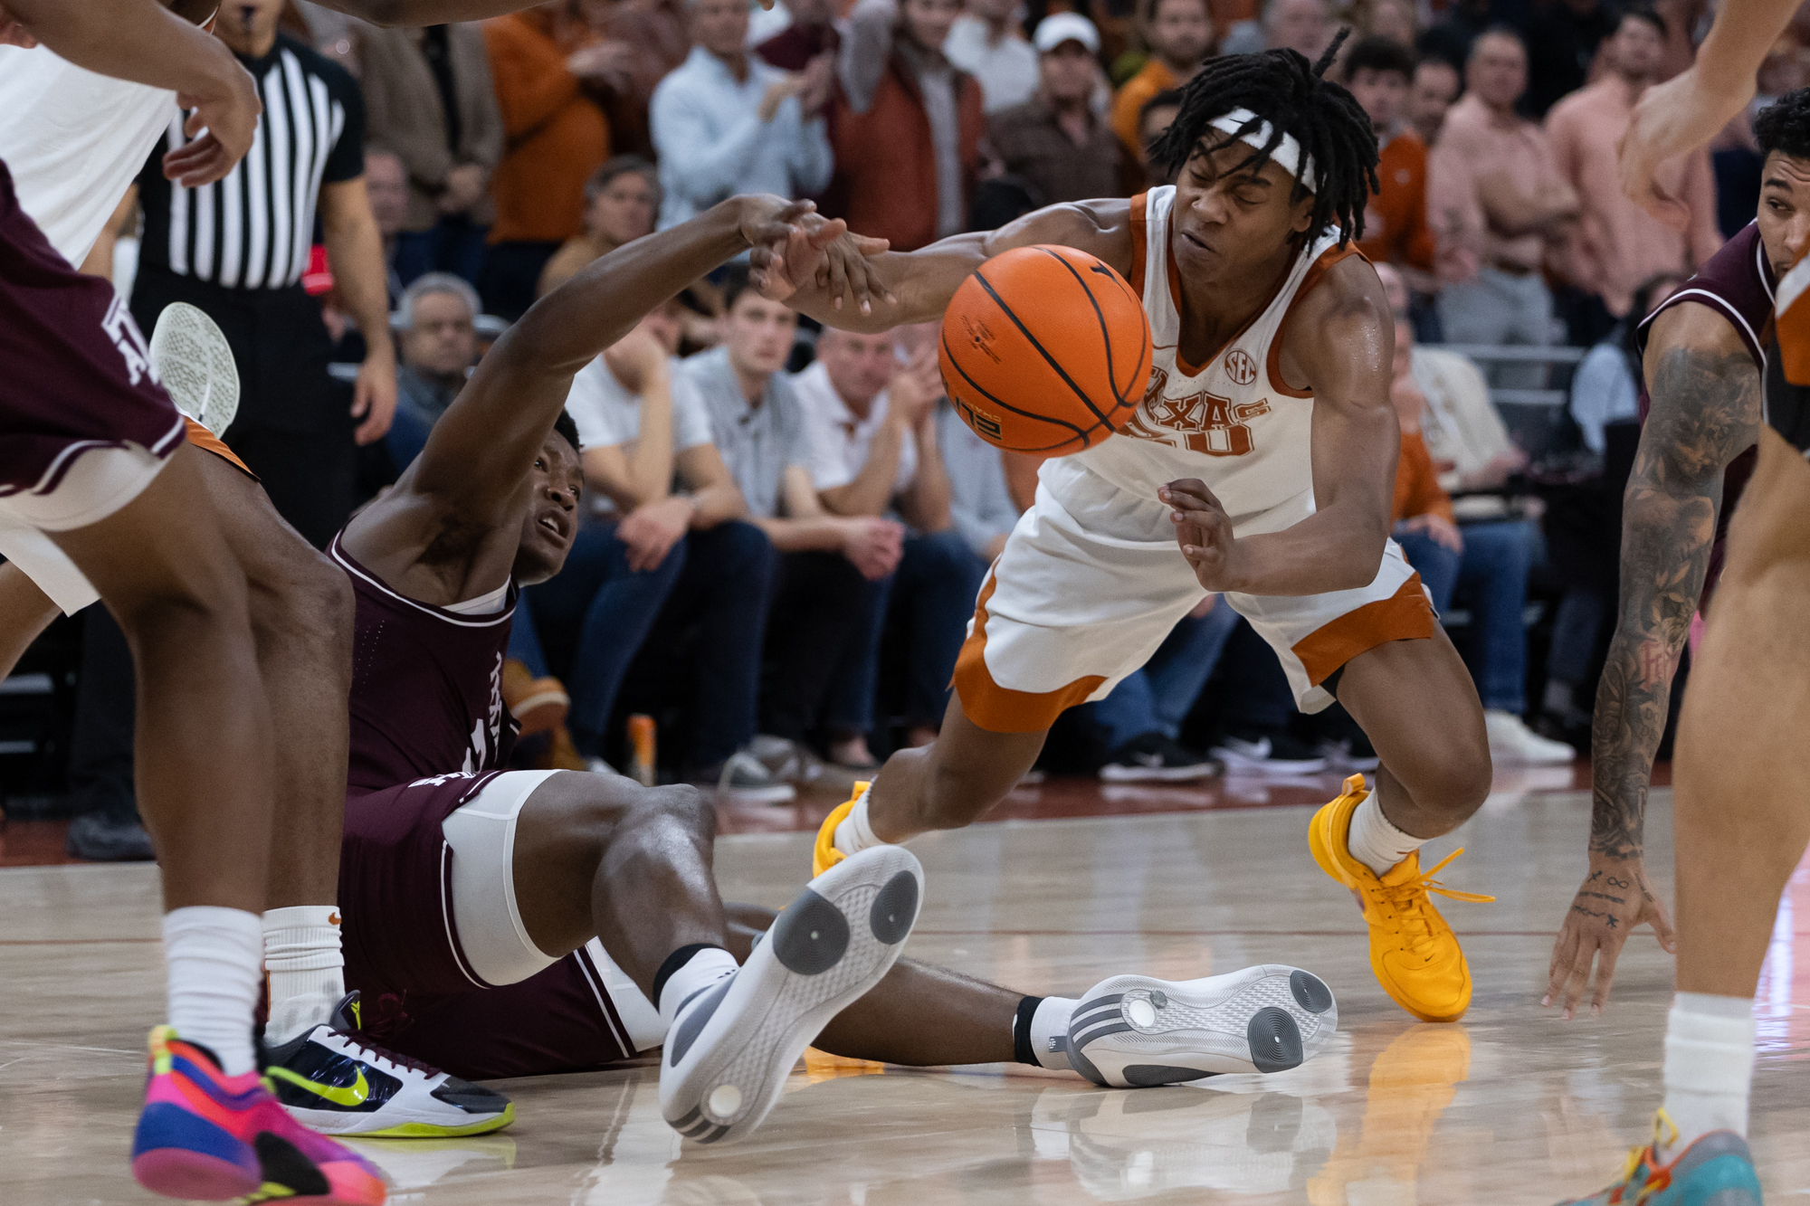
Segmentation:
[(1314, 397), (1283, 384), (1281, 333), (1296, 299), (1358, 248), (1339, 248), (1339, 232), (1327, 230), (1303, 248), (1256, 319), (1205, 364), (1191, 366), (1180, 355), (1182, 295), (1169, 254), (1175, 188), (1151, 188), (1131, 206), (1131, 288), (1144, 299), (1155, 342), (1149, 386), (1119, 435), (1046, 460), (1043, 482), (1061, 496), (1084, 491), (1091, 474), (1155, 500), (1166, 482), (1200, 478), (1240, 534), (1300, 523), (1314, 512)]

